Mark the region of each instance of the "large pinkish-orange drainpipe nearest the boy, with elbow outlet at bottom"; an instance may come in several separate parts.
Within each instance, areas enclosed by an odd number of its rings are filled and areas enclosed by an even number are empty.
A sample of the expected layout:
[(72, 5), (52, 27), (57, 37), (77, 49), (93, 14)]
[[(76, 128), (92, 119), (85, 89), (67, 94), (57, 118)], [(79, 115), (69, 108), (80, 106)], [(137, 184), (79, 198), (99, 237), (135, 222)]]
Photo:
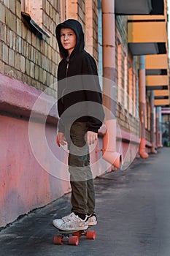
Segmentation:
[(103, 139), (103, 158), (118, 169), (121, 155), (116, 151), (116, 83), (115, 83), (115, 1), (102, 0), (103, 33), (103, 103), (104, 124), (107, 132)]

